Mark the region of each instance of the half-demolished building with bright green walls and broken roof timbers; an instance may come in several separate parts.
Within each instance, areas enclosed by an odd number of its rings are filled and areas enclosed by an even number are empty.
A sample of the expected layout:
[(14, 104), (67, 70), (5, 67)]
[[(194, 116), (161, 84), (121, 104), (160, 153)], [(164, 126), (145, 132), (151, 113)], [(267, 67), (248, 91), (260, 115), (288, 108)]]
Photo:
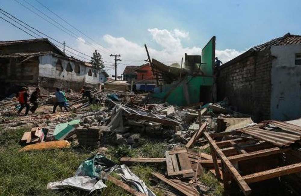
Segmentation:
[(185, 106), (209, 103), (215, 99), (214, 84), (215, 36), (202, 49), (202, 55), (185, 54), (185, 68), (180, 69), (152, 60), (158, 87), (151, 96), (170, 104)]

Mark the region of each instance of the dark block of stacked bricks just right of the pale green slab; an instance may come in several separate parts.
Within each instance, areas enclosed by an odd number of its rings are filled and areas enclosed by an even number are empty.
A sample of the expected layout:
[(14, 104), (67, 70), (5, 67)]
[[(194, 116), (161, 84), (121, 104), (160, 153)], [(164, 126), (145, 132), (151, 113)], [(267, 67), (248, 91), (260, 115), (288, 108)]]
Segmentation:
[(100, 146), (101, 130), (99, 127), (76, 128), (76, 138), (79, 145), (84, 147), (98, 148)]

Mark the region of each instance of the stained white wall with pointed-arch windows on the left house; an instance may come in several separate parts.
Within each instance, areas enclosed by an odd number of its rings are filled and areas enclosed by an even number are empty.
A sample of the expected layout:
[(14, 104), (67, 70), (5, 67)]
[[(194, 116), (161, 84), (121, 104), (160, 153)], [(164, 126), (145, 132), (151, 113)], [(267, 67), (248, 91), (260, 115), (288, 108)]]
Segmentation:
[[(74, 72), (75, 64), (73, 61), (68, 61), (65, 59), (61, 59), (63, 71), (56, 70), (56, 64), (57, 60), (59, 58), (53, 56), (53, 55), (44, 55), (39, 56), (39, 76), (40, 77), (49, 77), (49, 78), (56, 78), (61, 80), (67, 80), (67, 81), (76, 81), (76, 82), (87, 82), (90, 84), (98, 84), (98, 75), (99, 71), (97, 69), (93, 69), (84, 65), (80, 65), (80, 74), (77, 74)], [(70, 63), (73, 71), (67, 72), (66, 67), (68, 62)], [(88, 75), (88, 71), (91, 69), (92, 76)], [(96, 71), (97, 77), (94, 77), (94, 72)]]

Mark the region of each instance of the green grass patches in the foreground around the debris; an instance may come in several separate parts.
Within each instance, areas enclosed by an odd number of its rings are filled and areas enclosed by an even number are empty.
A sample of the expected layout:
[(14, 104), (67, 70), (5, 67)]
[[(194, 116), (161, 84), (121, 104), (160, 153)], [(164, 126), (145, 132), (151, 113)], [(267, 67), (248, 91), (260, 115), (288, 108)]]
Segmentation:
[[(47, 190), (47, 183), (63, 180), (74, 175), (80, 163), (96, 153), (88, 149), (70, 147), (68, 149), (19, 152), (18, 144), (26, 129), (0, 130), (0, 195), (86, 195), (86, 192), (76, 189), (63, 191)], [(164, 157), (167, 150), (162, 141), (141, 139), (141, 146), (129, 149), (127, 146), (108, 147), (107, 158), (119, 164), (122, 156)], [(135, 173), (158, 196), (163, 195), (162, 190), (153, 187), (150, 177), (152, 171), (163, 169), (155, 165), (134, 165), (131, 171)], [(206, 174), (201, 179), (215, 189), (214, 195), (221, 195), (220, 185), (216, 179)], [(129, 195), (126, 191), (106, 182), (108, 186), (102, 192), (95, 191), (89, 195)], [(163, 183), (162, 183), (163, 185)], [(166, 185), (165, 185), (166, 186)], [(216, 188), (217, 187), (217, 188)]]

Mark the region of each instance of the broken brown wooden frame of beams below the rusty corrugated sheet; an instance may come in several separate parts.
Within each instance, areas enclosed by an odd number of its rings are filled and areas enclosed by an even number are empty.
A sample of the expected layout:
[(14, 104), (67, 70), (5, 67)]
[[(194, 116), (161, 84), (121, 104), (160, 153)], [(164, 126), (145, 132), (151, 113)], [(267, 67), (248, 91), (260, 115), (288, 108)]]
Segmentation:
[[(209, 141), (211, 154), (213, 155), (213, 161), (210, 163), (214, 166), (214, 171), (211, 170), (217, 177), (221, 179), (220, 166), (222, 166), (222, 176), (225, 192), (228, 192), (229, 186), (228, 182), (234, 179), (239, 185), (240, 189), (245, 195), (251, 194), (251, 189), (249, 183), (259, 182), (267, 179), (272, 179), (280, 177), (282, 175), (292, 174), (301, 172), (301, 161), (300, 163), (291, 164), (288, 166), (282, 166), (275, 169), (269, 169), (266, 171), (256, 172), (249, 175), (240, 175), (237, 169), (234, 167), (239, 161), (250, 160), (253, 158), (269, 156), (273, 154), (285, 153), (291, 150), (290, 147), (277, 147), (266, 141), (259, 141), (258, 144), (253, 146), (240, 147), (236, 142), (246, 142), (248, 138), (235, 138), (226, 141), (214, 141), (218, 137), (223, 137), (225, 135), (236, 134), (237, 132), (225, 132), (216, 133), (209, 135), (204, 132), (205, 137)], [(213, 137), (211, 137), (213, 136)], [(221, 148), (224, 147), (224, 148)], [(219, 163), (218, 158), (220, 158), (221, 163)], [(210, 160), (200, 160), (208, 162)], [(234, 165), (233, 165), (234, 164)], [(202, 163), (204, 166), (204, 164)]]

